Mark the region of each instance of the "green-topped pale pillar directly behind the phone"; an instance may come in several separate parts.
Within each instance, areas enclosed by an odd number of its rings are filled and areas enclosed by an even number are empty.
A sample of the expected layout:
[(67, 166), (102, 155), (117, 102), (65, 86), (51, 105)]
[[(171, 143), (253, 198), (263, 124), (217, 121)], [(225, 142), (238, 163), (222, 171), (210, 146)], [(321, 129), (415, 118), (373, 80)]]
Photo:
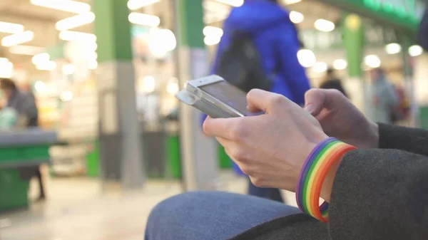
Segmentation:
[[(208, 52), (203, 42), (203, 0), (175, 0), (180, 86), (208, 74)], [(215, 189), (218, 179), (217, 145), (203, 135), (201, 114), (180, 104), (180, 149), (186, 190)]]

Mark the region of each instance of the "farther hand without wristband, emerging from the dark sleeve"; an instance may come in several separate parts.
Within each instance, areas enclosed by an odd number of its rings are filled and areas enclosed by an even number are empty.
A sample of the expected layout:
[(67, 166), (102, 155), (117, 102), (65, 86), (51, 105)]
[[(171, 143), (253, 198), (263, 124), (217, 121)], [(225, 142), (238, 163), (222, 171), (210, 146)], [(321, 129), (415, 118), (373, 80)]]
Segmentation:
[(330, 137), (358, 148), (379, 147), (379, 128), (338, 90), (311, 89), (305, 94), (305, 110)]

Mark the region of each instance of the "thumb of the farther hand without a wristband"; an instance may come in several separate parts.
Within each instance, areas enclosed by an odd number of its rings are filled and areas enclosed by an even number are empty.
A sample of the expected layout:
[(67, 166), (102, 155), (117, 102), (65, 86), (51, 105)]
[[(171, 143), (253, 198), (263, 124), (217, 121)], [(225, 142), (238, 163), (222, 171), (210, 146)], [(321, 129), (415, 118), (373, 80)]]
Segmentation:
[(335, 89), (310, 89), (305, 93), (305, 110), (316, 116), (322, 109), (331, 110), (346, 100), (345, 95)]

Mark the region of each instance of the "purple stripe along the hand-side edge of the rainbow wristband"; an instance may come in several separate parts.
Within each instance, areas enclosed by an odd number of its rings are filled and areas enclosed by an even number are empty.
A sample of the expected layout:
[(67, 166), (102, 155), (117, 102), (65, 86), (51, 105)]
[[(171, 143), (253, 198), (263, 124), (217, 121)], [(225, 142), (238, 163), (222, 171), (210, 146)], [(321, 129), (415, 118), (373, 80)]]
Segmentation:
[(322, 140), (321, 142), (319, 142), (314, 147), (314, 149), (312, 149), (310, 154), (307, 156), (305, 163), (302, 166), (302, 170), (300, 171), (299, 179), (297, 181), (297, 186), (296, 186), (296, 202), (297, 202), (297, 206), (299, 207), (300, 210), (302, 210), (302, 212), (305, 212), (305, 209), (303, 209), (302, 204), (300, 203), (301, 203), (301, 199), (303, 198), (302, 194), (303, 194), (303, 188), (305, 187), (306, 175), (310, 169), (310, 167), (307, 167), (307, 164), (308, 162), (310, 162), (310, 160), (312, 160), (312, 157), (320, 154), (320, 152), (322, 151), (322, 149), (324, 149), (325, 146), (330, 144), (330, 142), (334, 142), (335, 140), (337, 140), (335, 137), (328, 137), (325, 140)]

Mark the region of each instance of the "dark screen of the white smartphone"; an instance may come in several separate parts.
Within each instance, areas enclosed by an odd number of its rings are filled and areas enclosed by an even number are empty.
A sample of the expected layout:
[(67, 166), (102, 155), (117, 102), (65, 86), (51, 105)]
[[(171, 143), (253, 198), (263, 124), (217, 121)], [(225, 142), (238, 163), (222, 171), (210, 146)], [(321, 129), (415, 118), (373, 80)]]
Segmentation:
[(255, 115), (247, 109), (247, 93), (224, 80), (203, 85), (200, 89), (246, 116)]

